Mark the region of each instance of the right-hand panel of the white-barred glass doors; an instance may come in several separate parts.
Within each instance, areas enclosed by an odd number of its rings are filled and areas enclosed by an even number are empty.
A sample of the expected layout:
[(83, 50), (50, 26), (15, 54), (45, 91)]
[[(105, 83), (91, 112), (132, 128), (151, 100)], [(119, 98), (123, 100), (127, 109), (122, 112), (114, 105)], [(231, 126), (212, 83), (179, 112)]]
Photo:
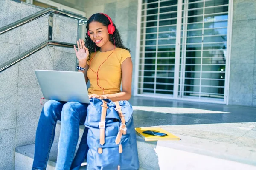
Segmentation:
[(183, 0), (179, 97), (224, 99), (228, 0)]

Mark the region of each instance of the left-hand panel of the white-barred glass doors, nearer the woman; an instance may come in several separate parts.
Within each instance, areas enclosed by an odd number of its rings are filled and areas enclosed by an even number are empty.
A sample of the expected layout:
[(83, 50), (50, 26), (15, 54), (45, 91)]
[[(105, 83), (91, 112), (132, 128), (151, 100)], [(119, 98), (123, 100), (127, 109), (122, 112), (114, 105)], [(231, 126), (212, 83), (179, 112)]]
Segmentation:
[(138, 94), (173, 95), (177, 0), (143, 0)]

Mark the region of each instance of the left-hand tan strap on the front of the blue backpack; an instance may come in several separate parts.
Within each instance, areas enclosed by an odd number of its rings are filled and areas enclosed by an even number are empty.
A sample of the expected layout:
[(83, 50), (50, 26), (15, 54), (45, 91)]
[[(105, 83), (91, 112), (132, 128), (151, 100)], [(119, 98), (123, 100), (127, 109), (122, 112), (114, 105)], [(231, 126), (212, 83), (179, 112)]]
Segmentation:
[(102, 100), (102, 114), (99, 122), (99, 143), (103, 145), (105, 143), (105, 120), (107, 114), (107, 102)]

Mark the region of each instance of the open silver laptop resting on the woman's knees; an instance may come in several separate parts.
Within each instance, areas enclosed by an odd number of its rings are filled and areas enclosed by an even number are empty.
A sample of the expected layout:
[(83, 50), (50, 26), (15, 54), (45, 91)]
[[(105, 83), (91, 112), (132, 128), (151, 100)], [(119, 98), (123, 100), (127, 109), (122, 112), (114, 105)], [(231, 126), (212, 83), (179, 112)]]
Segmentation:
[(47, 100), (90, 102), (82, 72), (35, 70), (35, 75)]

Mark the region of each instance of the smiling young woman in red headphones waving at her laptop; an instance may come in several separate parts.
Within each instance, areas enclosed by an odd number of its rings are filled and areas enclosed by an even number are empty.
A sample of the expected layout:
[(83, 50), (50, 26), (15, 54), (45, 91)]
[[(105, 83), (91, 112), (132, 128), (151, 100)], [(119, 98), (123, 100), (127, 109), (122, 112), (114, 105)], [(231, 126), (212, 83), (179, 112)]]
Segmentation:
[[(93, 14), (87, 21), (84, 40), (77, 41), (78, 69), (90, 80), (89, 98), (131, 98), (132, 61), (118, 30), (111, 19), (102, 13)], [(122, 91), (120, 90), (122, 82)], [(84, 87), (86, 88), (86, 87)], [(78, 170), (87, 155), (87, 128), (74, 157), (79, 138), (79, 125), (84, 125), (88, 104), (49, 100), (42, 109), (35, 139), (32, 170), (45, 170), (52, 147), (57, 120), (61, 120), (56, 170)]]

